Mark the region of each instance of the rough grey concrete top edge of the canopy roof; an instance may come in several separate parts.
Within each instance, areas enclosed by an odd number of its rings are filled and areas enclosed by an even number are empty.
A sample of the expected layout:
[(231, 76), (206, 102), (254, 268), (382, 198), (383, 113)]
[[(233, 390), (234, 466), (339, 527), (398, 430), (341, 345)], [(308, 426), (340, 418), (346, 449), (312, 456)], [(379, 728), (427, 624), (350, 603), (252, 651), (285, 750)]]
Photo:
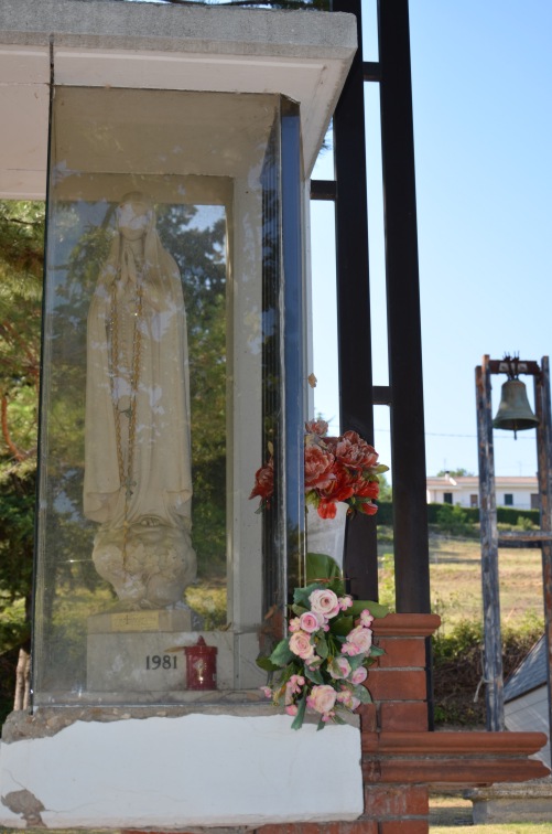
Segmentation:
[(356, 22), (333, 12), (102, 2), (0, 0), (0, 43), (347, 58)]

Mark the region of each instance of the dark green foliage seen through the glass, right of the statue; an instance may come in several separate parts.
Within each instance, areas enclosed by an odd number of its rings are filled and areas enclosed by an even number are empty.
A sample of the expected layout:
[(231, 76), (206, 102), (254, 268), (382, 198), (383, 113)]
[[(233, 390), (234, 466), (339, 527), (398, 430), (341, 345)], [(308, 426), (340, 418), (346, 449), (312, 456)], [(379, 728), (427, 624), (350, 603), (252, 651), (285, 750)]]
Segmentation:
[(193, 541), (199, 575), (226, 570), (226, 220), (213, 210), (194, 223), (194, 206), (159, 212), (163, 245), (183, 278), (190, 354)]

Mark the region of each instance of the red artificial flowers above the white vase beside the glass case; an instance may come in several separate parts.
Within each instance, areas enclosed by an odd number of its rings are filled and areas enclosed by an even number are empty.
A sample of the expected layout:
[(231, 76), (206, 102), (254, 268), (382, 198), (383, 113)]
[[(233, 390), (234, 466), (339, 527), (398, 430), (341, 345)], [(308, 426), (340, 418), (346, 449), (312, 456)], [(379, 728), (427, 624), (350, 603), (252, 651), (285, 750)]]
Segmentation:
[[(321, 518), (335, 518), (336, 504), (348, 504), (348, 514), (374, 515), (379, 494), (378, 474), (388, 467), (378, 463), (378, 453), (356, 431), (327, 437), (325, 420), (305, 424), (305, 503), (316, 507)], [(257, 470), (250, 499), (260, 498), (258, 512), (270, 506), (274, 493), (274, 459)]]

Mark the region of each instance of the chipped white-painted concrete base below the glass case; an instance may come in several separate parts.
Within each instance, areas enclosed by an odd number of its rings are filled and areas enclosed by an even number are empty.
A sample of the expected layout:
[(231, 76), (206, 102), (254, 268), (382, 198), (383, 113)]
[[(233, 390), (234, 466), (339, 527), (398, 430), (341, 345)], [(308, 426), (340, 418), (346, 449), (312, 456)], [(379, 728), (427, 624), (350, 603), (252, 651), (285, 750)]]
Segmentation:
[[(290, 725), (285, 715), (129, 717), (2, 744), (0, 826), (166, 831), (357, 819), (359, 729)], [(322, 790), (321, 768), (336, 755), (332, 790)]]

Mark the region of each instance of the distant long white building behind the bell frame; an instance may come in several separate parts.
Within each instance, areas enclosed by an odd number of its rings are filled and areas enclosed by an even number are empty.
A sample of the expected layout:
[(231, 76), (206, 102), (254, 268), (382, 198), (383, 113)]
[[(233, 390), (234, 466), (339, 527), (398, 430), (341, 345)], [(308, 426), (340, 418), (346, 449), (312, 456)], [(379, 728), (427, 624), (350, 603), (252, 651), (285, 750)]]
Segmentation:
[[(537, 478), (495, 477), (497, 506), (513, 506), (517, 510), (539, 510)], [(427, 478), (429, 504), (458, 504), (479, 506), (479, 479), (476, 475), (445, 474)]]

